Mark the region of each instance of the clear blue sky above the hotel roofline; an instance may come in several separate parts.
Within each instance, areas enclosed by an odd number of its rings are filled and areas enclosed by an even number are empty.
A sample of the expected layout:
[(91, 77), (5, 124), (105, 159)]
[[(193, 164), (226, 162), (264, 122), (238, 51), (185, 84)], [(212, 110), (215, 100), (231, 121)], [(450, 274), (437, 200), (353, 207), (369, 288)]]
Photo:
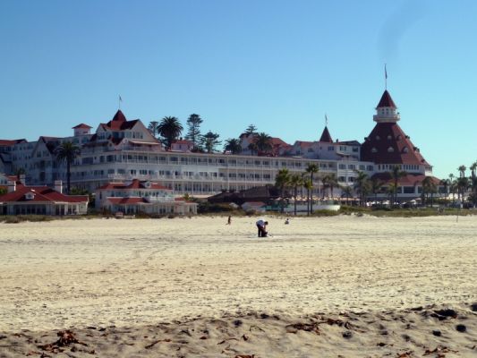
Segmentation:
[(477, 160), (477, 1), (0, 0), (0, 138), (166, 115), (362, 141), (388, 90), (447, 177)]

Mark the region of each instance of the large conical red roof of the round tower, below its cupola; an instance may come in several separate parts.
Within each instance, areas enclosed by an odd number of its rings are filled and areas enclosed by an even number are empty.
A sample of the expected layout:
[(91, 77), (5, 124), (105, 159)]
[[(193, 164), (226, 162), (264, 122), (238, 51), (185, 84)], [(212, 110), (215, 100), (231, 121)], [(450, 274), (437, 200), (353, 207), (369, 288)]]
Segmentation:
[(362, 143), (361, 158), (376, 164), (429, 165), (396, 123), (376, 124)]

